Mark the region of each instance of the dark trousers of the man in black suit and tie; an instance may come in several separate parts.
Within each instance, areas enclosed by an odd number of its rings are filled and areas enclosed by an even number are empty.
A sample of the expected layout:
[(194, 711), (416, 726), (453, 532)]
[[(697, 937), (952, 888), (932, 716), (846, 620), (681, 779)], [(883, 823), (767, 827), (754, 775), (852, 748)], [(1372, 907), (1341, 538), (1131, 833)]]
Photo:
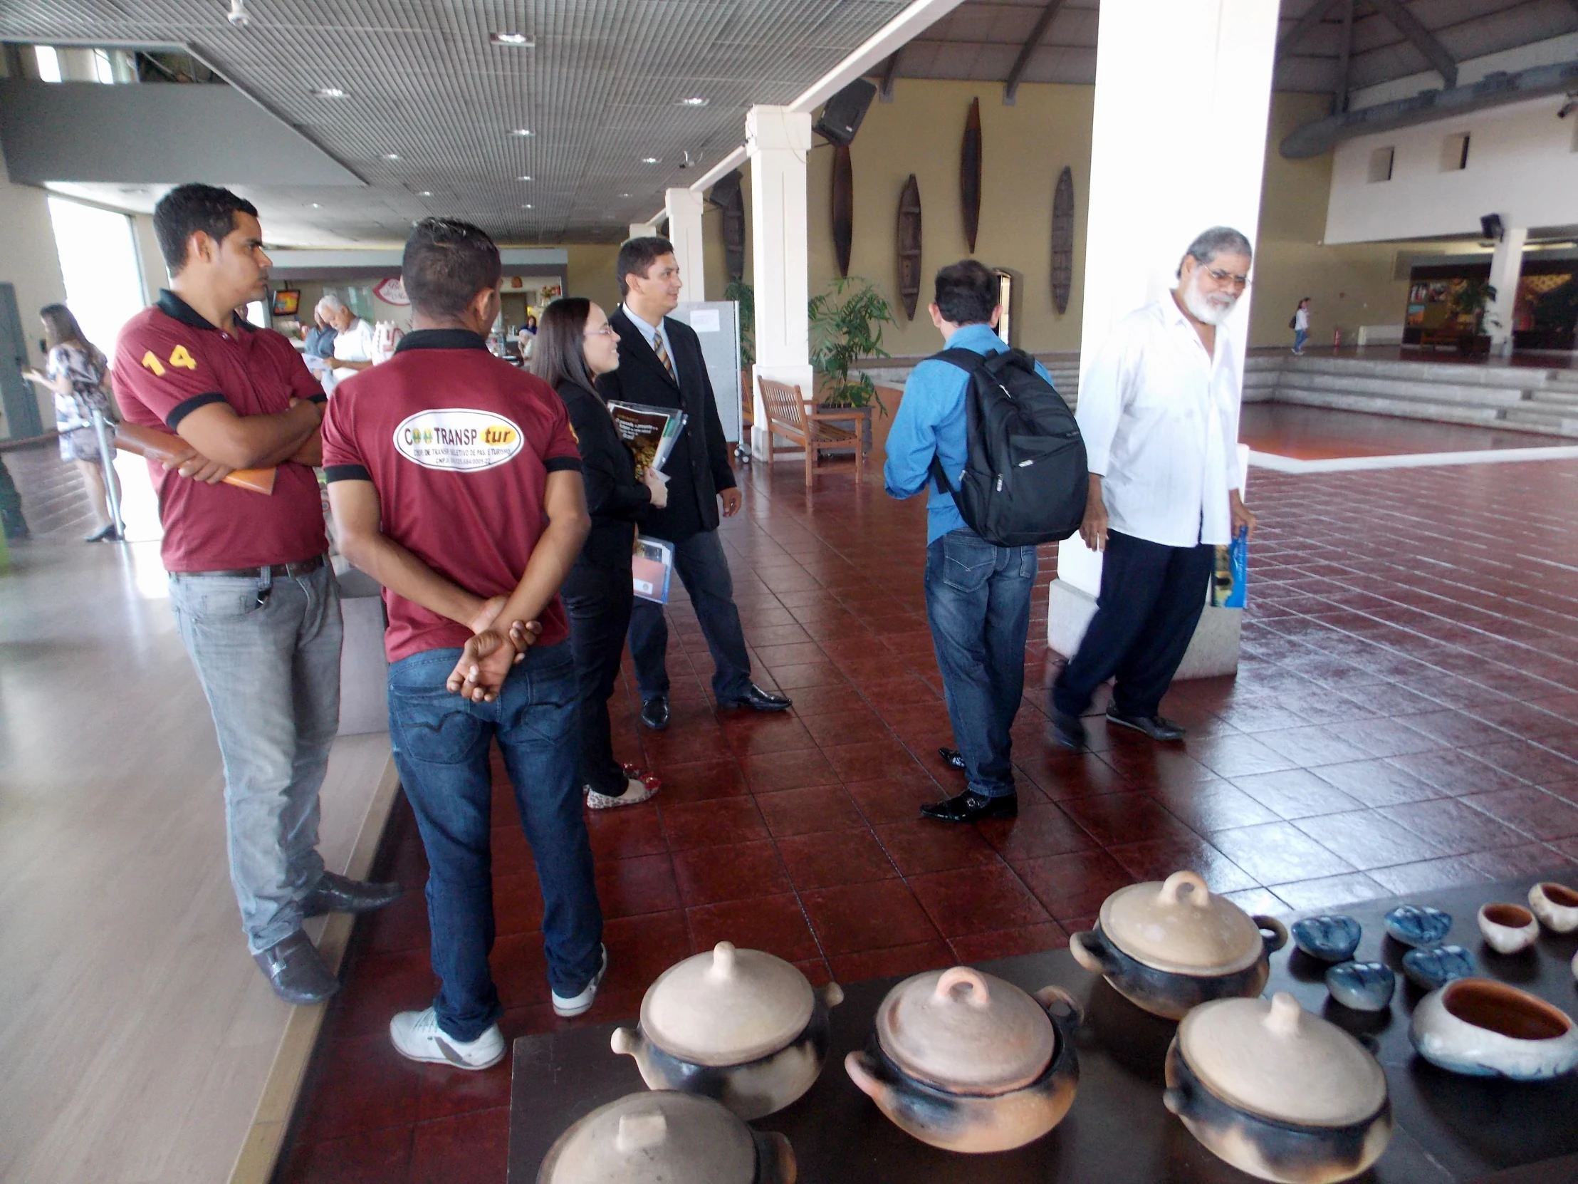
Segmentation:
[[(751, 685), (751, 655), (745, 652), (740, 609), (734, 606), (734, 579), (718, 532), (702, 530), (674, 543), (674, 571), (690, 594), (701, 635), (712, 650), (712, 693), (720, 703), (743, 698)], [(636, 663), (642, 699), (669, 693), (667, 647), (669, 624), (663, 617), (663, 605), (638, 598), (630, 614), (630, 657)]]

